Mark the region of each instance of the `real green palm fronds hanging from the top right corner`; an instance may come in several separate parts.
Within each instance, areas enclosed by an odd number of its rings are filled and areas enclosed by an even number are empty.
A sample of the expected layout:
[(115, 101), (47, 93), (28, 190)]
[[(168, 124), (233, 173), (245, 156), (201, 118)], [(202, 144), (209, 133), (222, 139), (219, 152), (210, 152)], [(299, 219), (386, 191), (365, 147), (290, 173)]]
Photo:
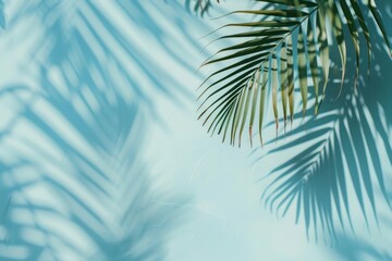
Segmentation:
[[(219, 63), (222, 67), (203, 84), (206, 87), (199, 96), (204, 98), (199, 119), (204, 119), (204, 125), (208, 123), (208, 132), (222, 135), (223, 141), (228, 136), (231, 145), (237, 140), (241, 146), (245, 127), (249, 133), (250, 145), (254, 128), (258, 129), (262, 144), (261, 130), (267, 110), (266, 98), (269, 95), (277, 134), (281, 117), (284, 125), (293, 121), (295, 88), (301, 90), (303, 115), (307, 111), (309, 91), (315, 95), (314, 111), (318, 113), (330, 74), (331, 42), (328, 35), (333, 36), (341, 57), (340, 91), (347, 63), (345, 29), (355, 47), (356, 78), (360, 63), (360, 35), (367, 44), (370, 66), (370, 30), (363, 9), (368, 9), (372, 14), (391, 54), (388, 36), (373, 0), (366, 3), (357, 0), (255, 0), (255, 3), (265, 5), (257, 8), (256, 4), (253, 10), (232, 13), (248, 15), (252, 17), (249, 22), (222, 26), (240, 28), (240, 32), (219, 39), (240, 39), (240, 42), (219, 50), (203, 64)], [(295, 83), (295, 75), (299, 77), (298, 84)], [(311, 76), (311, 85), (308, 85), (308, 75)]]

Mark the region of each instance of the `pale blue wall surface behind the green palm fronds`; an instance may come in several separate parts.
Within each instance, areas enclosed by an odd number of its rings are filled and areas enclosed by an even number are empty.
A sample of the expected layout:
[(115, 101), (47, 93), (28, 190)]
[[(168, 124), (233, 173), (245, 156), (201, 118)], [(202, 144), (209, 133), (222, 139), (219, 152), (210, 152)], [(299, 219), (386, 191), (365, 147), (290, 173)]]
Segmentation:
[[(206, 135), (195, 112), (212, 70), (197, 67), (219, 45), (201, 49), (220, 33), (203, 36), (234, 17), (201, 18), (174, 0), (2, 2), (0, 260), (392, 260), (392, 66), (378, 35), (356, 96), (351, 77), (335, 100), (332, 80), (318, 120), (298, 117), (277, 144), (269, 126), (262, 150), (237, 149)], [(392, 35), (392, 5), (378, 4)], [(241, 4), (222, 5), (211, 15)], [(295, 174), (284, 162), (330, 137), (343, 163), (327, 161), (309, 186), (323, 204), (346, 177), (351, 216), (340, 225), (343, 199), (323, 212), (334, 239), (304, 216), (295, 224), (296, 202), (278, 217), (260, 200)]]

